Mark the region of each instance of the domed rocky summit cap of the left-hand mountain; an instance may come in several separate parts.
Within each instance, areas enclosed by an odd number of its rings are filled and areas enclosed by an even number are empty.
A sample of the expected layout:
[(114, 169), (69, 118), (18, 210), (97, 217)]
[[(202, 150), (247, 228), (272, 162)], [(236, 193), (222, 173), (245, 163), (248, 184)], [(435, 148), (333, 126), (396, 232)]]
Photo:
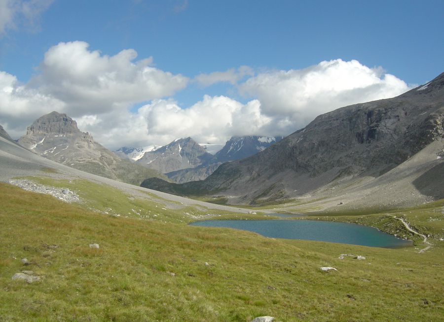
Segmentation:
[(80, 132), (77, 123), (66, 114), (56, 111), (43, 115), (28, 127), (26, 135), (66, 135)]

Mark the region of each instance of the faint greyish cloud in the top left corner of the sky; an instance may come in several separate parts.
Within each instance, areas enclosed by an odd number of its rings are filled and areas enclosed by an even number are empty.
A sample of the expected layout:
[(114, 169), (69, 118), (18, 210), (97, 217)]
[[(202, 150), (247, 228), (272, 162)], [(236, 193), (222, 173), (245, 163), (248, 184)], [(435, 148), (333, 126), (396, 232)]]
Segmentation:
[(40, 15), (53, 0), (0, 0), (0, 36), (20, 26), (35, 31)]

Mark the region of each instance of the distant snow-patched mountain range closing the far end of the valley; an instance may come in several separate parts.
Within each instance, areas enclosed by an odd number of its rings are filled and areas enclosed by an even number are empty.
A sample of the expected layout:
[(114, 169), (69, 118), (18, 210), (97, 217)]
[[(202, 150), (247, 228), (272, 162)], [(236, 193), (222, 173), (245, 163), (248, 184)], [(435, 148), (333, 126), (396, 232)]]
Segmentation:
[(163, 147), (148, 149), (122, 147), (114, 151), (119, 156), (165, 173), (173, 182), (203, 180), (223, 162), (240, 160), (279, 142), (282, 136), (233, 136), (215, 155), (208, 153), (212, 144), (198, 144), (192, 138), (180, 138)]

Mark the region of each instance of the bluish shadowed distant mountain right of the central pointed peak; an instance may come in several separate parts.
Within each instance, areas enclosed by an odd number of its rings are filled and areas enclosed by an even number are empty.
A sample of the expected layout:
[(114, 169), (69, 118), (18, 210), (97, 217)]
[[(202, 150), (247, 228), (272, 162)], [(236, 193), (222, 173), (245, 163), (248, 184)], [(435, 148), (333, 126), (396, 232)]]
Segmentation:
[[(204, 180), (216, 171), (223, 162), (250, 157), (280, 140), (282, 140), (282, 136), (233, 136), (207, 163), (195, 168), (186, 168), (165, 174), (175, 183)], [(204, 147), (202, 144), (200, 146)]]

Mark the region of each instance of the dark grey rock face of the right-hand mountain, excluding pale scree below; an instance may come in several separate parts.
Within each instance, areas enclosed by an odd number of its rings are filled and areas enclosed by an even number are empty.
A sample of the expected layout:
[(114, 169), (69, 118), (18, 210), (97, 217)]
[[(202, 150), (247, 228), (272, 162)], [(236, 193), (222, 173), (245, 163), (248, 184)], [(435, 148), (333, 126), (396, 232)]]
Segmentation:
[[(443, 117), (444, 73), (399, 97), (320, 115), (266, 150), (222, 164), (202, 182), (168, 189), (230, 195), (232, 203), (243, 203), (316, 193), (333, 182), (357, 184), (385, 175), (433, 142), (442, 147)], [(430, 156), (441, 162), (438, 157)], [(158, 180), (143, 185), (168, 186)]]

